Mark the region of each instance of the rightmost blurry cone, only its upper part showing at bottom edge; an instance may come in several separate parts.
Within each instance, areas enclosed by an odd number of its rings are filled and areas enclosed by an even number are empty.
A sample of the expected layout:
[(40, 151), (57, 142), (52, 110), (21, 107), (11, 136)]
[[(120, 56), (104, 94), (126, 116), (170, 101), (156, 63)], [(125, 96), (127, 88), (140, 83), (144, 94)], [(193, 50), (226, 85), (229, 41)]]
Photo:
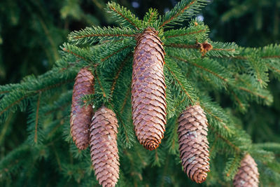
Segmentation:
[(251, 155), (246, 154), (240, 162), (240, 167), (235, 179), (233, 179), (233, 186), (235, 187), (258, 187), (258, 167)]

